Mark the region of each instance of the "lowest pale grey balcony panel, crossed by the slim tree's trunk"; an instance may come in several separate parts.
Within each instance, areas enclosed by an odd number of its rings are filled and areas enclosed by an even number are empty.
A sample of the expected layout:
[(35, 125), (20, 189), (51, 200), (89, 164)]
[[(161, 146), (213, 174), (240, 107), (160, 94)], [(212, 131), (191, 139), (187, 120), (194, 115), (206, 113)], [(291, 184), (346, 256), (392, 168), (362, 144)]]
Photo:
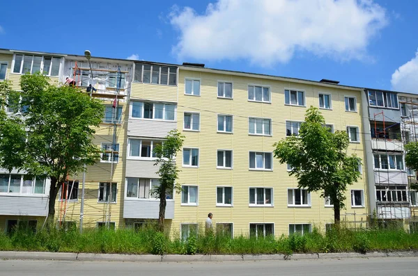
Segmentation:
[[(160, 211), (160, 200), (129, 200), (123, 205), (123, 218), (157, 219)], [(167, 200), (165, 218), (174, 218), (174, 201)]]

